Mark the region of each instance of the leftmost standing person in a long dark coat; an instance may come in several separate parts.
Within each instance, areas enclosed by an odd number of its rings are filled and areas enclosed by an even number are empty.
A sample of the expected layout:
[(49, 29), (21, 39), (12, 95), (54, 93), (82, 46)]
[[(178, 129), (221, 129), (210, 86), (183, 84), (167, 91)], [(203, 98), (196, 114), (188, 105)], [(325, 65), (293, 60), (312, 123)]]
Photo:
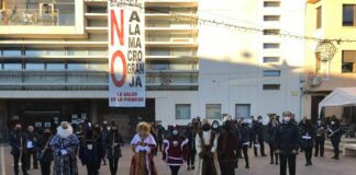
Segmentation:
[(13, 156), (13, 171), (15, 175), (19, 175), (19, 160), (21, 159), (21, 167), (24, 175), (27, 174), (26, 170), (26, 151), (25, 140), (26, 137), (21, 130), (21, 124), (16, 124), (14, 131), (10, 135), (11, 154)]

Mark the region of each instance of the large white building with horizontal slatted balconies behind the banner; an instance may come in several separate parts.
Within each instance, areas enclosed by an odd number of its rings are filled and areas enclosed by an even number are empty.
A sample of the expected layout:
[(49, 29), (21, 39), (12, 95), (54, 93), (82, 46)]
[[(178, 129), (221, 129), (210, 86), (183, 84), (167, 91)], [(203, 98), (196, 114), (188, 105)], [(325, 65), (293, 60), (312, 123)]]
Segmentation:
[(299, 116), (303, 40), (282, 34), (303, 35), (303, 0), (145, 0), (145, 108), (108, 107), (107, 5), (1, 0), (1, 128)]

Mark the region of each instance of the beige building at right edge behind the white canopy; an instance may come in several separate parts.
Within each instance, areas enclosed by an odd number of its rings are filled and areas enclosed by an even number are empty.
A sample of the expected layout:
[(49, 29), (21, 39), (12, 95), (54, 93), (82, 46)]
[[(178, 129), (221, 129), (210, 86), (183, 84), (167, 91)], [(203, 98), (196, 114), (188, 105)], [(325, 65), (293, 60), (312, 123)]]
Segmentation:
[[(309, 0), (305, 9), (303, 115), (315, 118), (318, 104), (334, 88), (356, 85), (356, 1)], [(347, 42), (353, 39), (353, 42)], [(325, 116), (351, 116), (355, 107), (326, 107)]]

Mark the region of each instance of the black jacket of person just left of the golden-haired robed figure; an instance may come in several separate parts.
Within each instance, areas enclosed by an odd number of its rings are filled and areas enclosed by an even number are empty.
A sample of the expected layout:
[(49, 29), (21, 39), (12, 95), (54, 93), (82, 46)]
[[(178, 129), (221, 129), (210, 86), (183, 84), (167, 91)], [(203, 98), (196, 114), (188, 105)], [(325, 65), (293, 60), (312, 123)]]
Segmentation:
[[(116, 147), (112, 150), (113, 143), (118, 143)], [(119, 132), (110, 131), (107, 136), (107, 158), (108, 159), (118, 159), (122, 156), (121, 145), (123, 145), (124, 141)]]

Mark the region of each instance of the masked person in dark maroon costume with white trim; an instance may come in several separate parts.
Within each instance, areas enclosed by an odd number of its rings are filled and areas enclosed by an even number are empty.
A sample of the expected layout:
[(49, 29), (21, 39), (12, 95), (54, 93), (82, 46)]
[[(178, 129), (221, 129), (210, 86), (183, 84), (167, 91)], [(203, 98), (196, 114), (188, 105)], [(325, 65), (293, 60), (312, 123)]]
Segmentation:
[(178, 175), (180, 166), (188, 159), (188, 139), (179, 133), (178, 127), (175, 125), (163, 143), (163, 160), (169, 166), (171, 175)]

